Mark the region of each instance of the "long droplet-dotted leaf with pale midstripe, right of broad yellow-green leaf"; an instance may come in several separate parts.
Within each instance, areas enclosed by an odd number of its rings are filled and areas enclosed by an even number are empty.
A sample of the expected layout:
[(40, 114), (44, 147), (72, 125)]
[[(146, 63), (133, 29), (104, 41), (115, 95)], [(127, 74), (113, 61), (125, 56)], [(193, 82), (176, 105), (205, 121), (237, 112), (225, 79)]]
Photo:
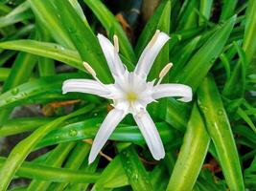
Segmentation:
[(229, 120), (214, 79), (206, 77), (198, 89), (198, 105), (214, 142), (225, 180), (232, 191), (244, 190), (240, 159)]

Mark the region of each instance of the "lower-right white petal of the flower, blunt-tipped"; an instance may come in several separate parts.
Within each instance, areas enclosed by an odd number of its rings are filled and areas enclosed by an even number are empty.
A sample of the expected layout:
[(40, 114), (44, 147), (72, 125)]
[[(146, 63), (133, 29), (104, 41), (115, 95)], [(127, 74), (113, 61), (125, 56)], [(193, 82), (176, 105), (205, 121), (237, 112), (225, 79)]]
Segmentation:
[(133, 116), (145, 138), (154, 159), (163, 159), (165, 150), (157, 129), (147, 111)]

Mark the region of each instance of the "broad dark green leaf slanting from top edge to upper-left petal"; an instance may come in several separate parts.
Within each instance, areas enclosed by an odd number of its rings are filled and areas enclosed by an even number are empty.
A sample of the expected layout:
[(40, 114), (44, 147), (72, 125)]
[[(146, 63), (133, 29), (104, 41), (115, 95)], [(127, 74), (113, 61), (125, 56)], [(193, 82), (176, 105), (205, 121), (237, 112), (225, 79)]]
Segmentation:
[[(56, 5), (56, 11), (60, 15), (59, 19), (65, 27), (66, 32), (69, 33), (82, 60), (88, 62), (97, 71), (100, 79), (107, 83), (110, 82), (112, 76), (110, 75), (105, 57), (95, 34), (83, 23), (77, 11), (74, 10), (68, 1), (54, 0), (53, 2)], [(80, 27), (78, 28), (78, 26)]]

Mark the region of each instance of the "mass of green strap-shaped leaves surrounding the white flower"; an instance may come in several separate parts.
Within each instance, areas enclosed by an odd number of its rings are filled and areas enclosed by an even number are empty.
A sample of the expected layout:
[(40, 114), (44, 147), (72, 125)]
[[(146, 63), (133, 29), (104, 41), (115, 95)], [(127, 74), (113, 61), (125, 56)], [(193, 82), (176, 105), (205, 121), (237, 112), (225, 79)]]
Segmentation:
[[(142, 22), (134, 27), (132, 45), (106, 5), (0, 0), (0, 138), (29, 132), (0, 158), (0, 191), (20, 178), (29, 184), (10, 189), (256, 190), (256, 1), (162, 0), (143, 30)], [(150, 79), (172, 61), (166, 80), (191, 86), (194, 98), (189, 104), (169, 98), (150, 106), (165, 159), (153, 161), (127, 117), (105, 146), (112, 160), (99, 156), (88, 165), (90, 144), (83, 140), (94, 138), (109, 102), (62, 95), (61, 85), (68, 78), (90, 78), (82, 60), (105, 83), (113, 81), (96, 38), (99, 28), (109, 39), (118, 35), (128, 70), (156, 30), (170, 34)], [(61, 106), (77, 99), (69, 112)], [(58, 107), (42, 117), (10, 117), (15, 107), (49, 109), (53, 102)], [(42, 148), (46, 152), (27, 159)]]

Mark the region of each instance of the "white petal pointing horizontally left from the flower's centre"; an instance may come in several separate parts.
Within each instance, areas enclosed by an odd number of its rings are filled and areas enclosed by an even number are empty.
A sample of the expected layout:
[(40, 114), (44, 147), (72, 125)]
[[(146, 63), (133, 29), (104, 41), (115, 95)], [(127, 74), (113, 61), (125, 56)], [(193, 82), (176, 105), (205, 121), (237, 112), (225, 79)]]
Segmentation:
[(104, 97), (110, 94), (107, 86), (100, 84), (98, 81), (92, 79), (65, 80), (62, 84), (62, 92), (63, 94), (70, 92), (79, 92)]

